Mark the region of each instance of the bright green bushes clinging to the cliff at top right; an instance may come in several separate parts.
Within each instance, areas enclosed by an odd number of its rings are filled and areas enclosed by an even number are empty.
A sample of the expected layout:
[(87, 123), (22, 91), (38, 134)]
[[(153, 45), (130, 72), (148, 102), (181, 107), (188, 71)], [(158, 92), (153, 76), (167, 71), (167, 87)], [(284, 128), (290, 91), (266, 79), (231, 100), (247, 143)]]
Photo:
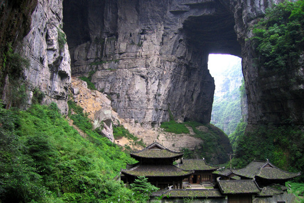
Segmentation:
[(285, 1), (268, 9), (254, 27), (251, 38), (259, 65), (273, 71), (298, 64), (304, 50), (304, 1)]

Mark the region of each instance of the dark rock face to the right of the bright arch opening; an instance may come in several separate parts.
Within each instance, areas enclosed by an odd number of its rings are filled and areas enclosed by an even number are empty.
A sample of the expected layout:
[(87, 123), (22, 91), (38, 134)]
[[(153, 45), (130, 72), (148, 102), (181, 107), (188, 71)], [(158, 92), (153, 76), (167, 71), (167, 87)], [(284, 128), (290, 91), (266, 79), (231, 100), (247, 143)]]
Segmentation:
[[(303, 61), (288, 72), (275, 73), (256, 66), (251, 41), (252, 25), (263, 16), (266, 8), (282, 1), (230, 1), (236, 19), (238, 41), (242, 46), (242, 66), (248, 98), (248, 124), (302, 125), (303, 116)], [(234, 4), (233, 4), (234, 3)]]

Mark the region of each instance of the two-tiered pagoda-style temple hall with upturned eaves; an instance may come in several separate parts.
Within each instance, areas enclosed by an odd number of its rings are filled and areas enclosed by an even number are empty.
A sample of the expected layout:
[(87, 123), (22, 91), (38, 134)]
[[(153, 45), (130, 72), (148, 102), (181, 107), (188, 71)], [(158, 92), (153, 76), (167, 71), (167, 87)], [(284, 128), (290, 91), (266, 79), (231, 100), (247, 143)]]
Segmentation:
[(131, 157), (138, 162), (127, 164), (127, 168), (121, 170), (121, 180), (124, 183), (133, 183), (138, 176), (145, 176), (148, 181), (160, 189), (170, 185), (173, 188), (182, 188), (182, 180), (193, 174), (193, 170), (184, 170), (173, 165), (173, 161), (181, 158), (182, 152), (175, 152), (154, 142), (146, 148), (131, 152)]

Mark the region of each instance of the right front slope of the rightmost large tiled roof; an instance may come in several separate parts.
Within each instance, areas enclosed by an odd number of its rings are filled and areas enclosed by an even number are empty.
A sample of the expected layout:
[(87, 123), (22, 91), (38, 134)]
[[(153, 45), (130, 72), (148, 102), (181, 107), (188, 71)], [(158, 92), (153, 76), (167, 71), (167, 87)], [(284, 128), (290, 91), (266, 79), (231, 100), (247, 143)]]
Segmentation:
[(300, 173), (290, 173), (290, 172), (286, 172), (283, 170), (280, 170), (277, 167), (273, 167), (273, 168), (267, 168), (264, 167), (261, 169), (260, 173), (257, 175), (260, 178), (264, 178), (264, 179), (291, 179), (291, 178), (295, 178), (297, 176), (299, 176)]

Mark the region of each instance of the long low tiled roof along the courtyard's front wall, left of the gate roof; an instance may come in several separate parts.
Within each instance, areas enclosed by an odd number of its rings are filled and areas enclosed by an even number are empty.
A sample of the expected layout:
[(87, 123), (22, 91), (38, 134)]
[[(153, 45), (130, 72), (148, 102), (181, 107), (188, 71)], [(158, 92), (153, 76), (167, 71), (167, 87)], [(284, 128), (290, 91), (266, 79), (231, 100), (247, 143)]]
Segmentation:
[(218, 189), (169, 189), (164, 192), (153, 192), (151, 196), (169, 195), (169, 197), (224, 197)]

